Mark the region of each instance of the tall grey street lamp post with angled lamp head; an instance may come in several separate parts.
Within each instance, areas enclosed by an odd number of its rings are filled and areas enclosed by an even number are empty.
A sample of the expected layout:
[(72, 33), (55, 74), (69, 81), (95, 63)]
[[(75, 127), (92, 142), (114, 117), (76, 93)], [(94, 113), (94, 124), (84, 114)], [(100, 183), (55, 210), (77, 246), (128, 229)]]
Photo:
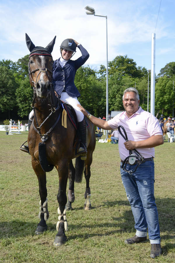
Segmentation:
[[(86, 12), (87, 15), (95, 15), (95, 9), (86, 6), (85, 7), (88, 12)], [(95, 15), (95, 16), (101, 16), (106, 17), (106, 121), (108, 120), (108, 30), (107, 30), (107, 15)], [(106, 131), (106, 138), (108, 138), (108, 131)]]

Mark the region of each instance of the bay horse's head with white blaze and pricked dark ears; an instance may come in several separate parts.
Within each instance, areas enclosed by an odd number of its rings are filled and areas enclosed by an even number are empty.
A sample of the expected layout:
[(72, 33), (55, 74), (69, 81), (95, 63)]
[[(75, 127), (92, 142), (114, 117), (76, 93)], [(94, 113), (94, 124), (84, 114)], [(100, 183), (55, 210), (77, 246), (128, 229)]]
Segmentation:
[(29, 80), (34, 93), (39, 98), (47, 98), (50, 94), (53, 58), (51, 52), (55, 44), (55, 38), (46, 46), (35, 46), (26, 34), (26, 44), (29, 55)]

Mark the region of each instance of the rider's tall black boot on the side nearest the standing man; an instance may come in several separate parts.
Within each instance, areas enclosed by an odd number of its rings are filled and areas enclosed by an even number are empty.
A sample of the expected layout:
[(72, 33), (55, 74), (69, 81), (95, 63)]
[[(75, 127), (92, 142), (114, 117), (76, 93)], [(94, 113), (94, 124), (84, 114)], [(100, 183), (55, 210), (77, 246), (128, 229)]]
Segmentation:
[(87, 146), (86, 146), (86, 141), (87, 141), (87, 127), (86, 127), (86, 122), (85, 119), (83, 119), (81, 122), (78, 122), (78, 131), (80, 134), (80, 148), (77, 151), (78, 155), (81, 155), (81, 160), (86, 160), (86, 155), (87, 155)]

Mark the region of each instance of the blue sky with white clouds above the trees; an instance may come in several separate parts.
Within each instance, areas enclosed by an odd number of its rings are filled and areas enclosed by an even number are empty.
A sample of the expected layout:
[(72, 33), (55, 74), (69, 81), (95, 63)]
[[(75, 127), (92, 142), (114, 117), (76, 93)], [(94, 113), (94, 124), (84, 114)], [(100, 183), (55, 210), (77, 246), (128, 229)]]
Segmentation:
[[(151, 68), (151, 36), (156, 34), (155, 73), (175, 61), (174, 0), (28, 0), (0, 1), (0, 60), (29, 54), (25, 33), (36, 46), (47, 46), (56, 35), (53, 59), (60, 57), (66, 38), (80, 42), (89, 52), (86, 65), (106, 65), (106, 18), (86, 15), (85, 6), (96, 15), (107, 15), (108, 61), (127, 55), (137, 66)], [(159, 11), (157, 21), (157, 15)], [(157, 21), (157, 27), (155, 25)], [(79, 50), (74, 59), (80, 56)]]

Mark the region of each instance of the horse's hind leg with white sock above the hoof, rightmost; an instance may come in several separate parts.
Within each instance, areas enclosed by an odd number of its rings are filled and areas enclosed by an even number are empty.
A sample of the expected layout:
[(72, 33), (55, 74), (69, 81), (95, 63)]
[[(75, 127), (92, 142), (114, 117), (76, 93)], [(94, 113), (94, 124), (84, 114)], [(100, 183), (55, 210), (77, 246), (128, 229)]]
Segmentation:
[(92, 164), (92, 152), (88, 152), (87, 159), (85, 160), (85, 170), (84, 175), (86, 179), (86, 191), (85, 191), (85, 203), (84, 203), (84, 210), (91, 210), (91, 202), (90, 202), (90, 187), (89, 187), (89, 181), (90, 181), (90, 165)]

